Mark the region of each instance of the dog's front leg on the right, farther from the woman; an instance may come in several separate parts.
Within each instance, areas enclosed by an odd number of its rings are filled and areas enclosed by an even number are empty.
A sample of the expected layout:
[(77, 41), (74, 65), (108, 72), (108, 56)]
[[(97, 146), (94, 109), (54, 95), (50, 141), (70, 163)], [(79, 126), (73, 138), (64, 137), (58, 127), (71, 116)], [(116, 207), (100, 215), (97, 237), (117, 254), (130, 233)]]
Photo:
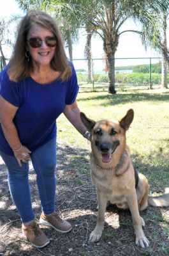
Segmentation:
[(145, 234), (143, 233), (142, 221), (140, 213), (138, 211), (138, 202), (135, 191), (131, 191), (130, 195), (128, 195), (127, 202), (133, 219), (133, 227), (135, 229), (136, 235), (136, 244), (138, 246), (141, 246), (142, 248), (147, 248), (149, 247), (149, 240), (147, 239), (147, 237), (145, 237)]

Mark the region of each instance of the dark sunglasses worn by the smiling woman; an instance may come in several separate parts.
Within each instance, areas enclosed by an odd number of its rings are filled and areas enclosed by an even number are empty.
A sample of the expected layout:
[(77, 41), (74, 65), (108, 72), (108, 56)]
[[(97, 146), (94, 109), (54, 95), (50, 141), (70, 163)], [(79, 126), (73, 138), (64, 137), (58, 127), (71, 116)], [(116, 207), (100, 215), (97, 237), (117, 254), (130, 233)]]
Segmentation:
[(45, 42), (45, 44), (48, 47), (54, 47), (55, 45), (57, 45), (57, 40), (56, 40), (55, 36), (47, 36), (47, 37), (45, 37), (44, 40), (42, 40), (39, 37), (31, 37), (27, 41), (33, 48), (41, 47), (43, 41)]

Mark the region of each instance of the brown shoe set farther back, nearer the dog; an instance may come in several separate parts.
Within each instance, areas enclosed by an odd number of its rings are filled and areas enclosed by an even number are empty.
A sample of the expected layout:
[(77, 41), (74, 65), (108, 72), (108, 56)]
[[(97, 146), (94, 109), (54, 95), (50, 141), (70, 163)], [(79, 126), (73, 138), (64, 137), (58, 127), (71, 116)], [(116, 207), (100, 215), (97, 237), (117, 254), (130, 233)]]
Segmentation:
[(67, 233), (71, 230), (71, 225), (68, 221), (62, 220), (56, 212), (50, 215), (45, 215), (43, 212), (40, 216), (40, 224), (54, 228), (61, 233)]

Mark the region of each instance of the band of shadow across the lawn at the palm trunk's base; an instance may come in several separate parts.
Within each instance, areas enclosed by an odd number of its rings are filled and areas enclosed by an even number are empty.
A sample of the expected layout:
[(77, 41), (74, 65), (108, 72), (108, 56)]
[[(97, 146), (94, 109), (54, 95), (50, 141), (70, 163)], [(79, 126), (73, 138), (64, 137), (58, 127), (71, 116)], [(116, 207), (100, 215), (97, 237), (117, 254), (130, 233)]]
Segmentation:
[[(107, 94), (107, 95), (92, 95), (92, 97), (86, 99), (79, 99), (79, 101), (87, 100), (93, 101), (97, 100), (97, 104), (101, 104), (101, 106), (110, 105), (118, 105), (124, 104), (128, 102), (142, 102), (142, 101), (153, 101), (153, 102), (167, 102), (169, 101), (169, 91), (168, 93), (119, 93), (119, 94)], [(105, 102), (103, 102), (105, 100)]]

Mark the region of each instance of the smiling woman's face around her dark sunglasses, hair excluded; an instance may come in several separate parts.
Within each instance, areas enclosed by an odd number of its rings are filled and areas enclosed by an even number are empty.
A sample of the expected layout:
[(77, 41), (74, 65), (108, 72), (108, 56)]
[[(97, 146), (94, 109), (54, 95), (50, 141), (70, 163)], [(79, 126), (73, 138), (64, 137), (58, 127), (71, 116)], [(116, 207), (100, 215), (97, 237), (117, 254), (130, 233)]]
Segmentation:
[[(31, 39), (32, 38), (32, 39)], [(41, 45), (37, 48), (31, 47), (29, 40), (41, 39)], [(54, 34), (39, 25), (34, 24), (27, 34), (27, 50), (31, 55), (34, 65), (38, 66), (50, 66), (50, 61), (54, 57), (56, 46), (48, 46), (45, 42), (45, 38), (54, 39)]]

